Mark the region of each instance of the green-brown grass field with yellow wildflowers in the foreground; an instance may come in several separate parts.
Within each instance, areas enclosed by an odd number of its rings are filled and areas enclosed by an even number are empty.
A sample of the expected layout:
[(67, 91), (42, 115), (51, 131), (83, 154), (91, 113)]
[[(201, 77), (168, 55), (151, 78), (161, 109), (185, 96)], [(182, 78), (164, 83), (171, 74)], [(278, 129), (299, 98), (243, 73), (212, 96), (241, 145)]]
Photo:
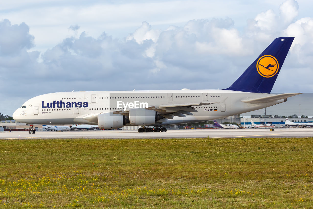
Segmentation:
[(312, 208), (313, 138), (0, 141), (0, 208)]

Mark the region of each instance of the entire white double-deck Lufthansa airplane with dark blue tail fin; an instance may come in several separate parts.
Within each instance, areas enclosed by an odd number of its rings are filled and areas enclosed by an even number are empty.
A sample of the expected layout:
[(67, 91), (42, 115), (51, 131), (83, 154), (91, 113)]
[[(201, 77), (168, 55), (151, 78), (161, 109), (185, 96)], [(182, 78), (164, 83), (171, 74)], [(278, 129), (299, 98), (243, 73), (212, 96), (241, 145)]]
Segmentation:
[(31, 124), (31, 134), (35, 133), (32, 124), (89, 124), (100, 129), (140, 126), (138, 132), (166, 132), (165, 125), (204, 122), (263, 109), (301, 94), (270, 94), (293, 40), (273, 40), (225, 89), (50, 93), (26, 101), (14, 111), (13, 118)]

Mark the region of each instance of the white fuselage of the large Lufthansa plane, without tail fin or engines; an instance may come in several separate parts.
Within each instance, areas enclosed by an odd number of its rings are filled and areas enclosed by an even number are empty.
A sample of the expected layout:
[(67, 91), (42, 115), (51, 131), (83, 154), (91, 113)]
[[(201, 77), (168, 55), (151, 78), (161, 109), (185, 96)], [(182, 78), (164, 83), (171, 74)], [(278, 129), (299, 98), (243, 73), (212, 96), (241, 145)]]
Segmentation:
[[(174, 116), (162, 119), (163, 125), (201, 122), (262, 109), (284, 102), (284, 99), (266, 103), (249, 104), (241, 100), (257, 99), (274, 94), (248, 93), (231, 90), (159, 90), (159, 91), (92, 91), (58, 92), (36, 96), (18, 108), (13, 118), (28, 124), (91, 124), (84, 117), (99, 113), (123, 114), (131, 108), (149, 109), (167, 104), (202, 102), (206, 105), (192, 106), (197, 110), (186, 117)], [(211, 104), (208, 104), (211, 103)], [(141, 106), (142, 105), (142, 106)], [(126, 108), (125, 108), (126, 107)], [(146, 108), (146, 106), (143, 106)], [(164, 110), (161, 115), (170, 114)], [(160, 113), (159, 113), (160, 114)], [(160, 123), (156, 124), (160, 125)], [(126, 124), (124, 126), (131, 126)]]

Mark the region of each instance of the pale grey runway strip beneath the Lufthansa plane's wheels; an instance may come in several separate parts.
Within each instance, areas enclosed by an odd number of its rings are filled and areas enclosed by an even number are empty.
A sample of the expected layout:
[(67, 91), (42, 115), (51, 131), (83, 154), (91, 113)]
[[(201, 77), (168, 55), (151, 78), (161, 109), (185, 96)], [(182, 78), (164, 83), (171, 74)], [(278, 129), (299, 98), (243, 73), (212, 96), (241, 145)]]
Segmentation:
[(261, 138), (261, 137), (313, 137), (313, 128), (269, 129), (194, 129), (167, 130), (165, 133), (139, 133), (138, 131), (28, 131), (1, 132), (0, 139), (132, 139), (132, 138)]

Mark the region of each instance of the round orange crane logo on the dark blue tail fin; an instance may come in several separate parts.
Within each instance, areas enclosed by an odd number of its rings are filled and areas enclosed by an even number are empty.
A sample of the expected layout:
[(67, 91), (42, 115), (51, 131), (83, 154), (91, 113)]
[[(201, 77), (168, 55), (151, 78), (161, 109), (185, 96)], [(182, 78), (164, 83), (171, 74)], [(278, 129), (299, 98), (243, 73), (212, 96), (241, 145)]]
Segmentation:
[(256, 69), (259, 74), (265, 78), (270, 78), (275, 76), (278, 72), (278, 61), (274, 56), (264, 55), (256, 63)]

